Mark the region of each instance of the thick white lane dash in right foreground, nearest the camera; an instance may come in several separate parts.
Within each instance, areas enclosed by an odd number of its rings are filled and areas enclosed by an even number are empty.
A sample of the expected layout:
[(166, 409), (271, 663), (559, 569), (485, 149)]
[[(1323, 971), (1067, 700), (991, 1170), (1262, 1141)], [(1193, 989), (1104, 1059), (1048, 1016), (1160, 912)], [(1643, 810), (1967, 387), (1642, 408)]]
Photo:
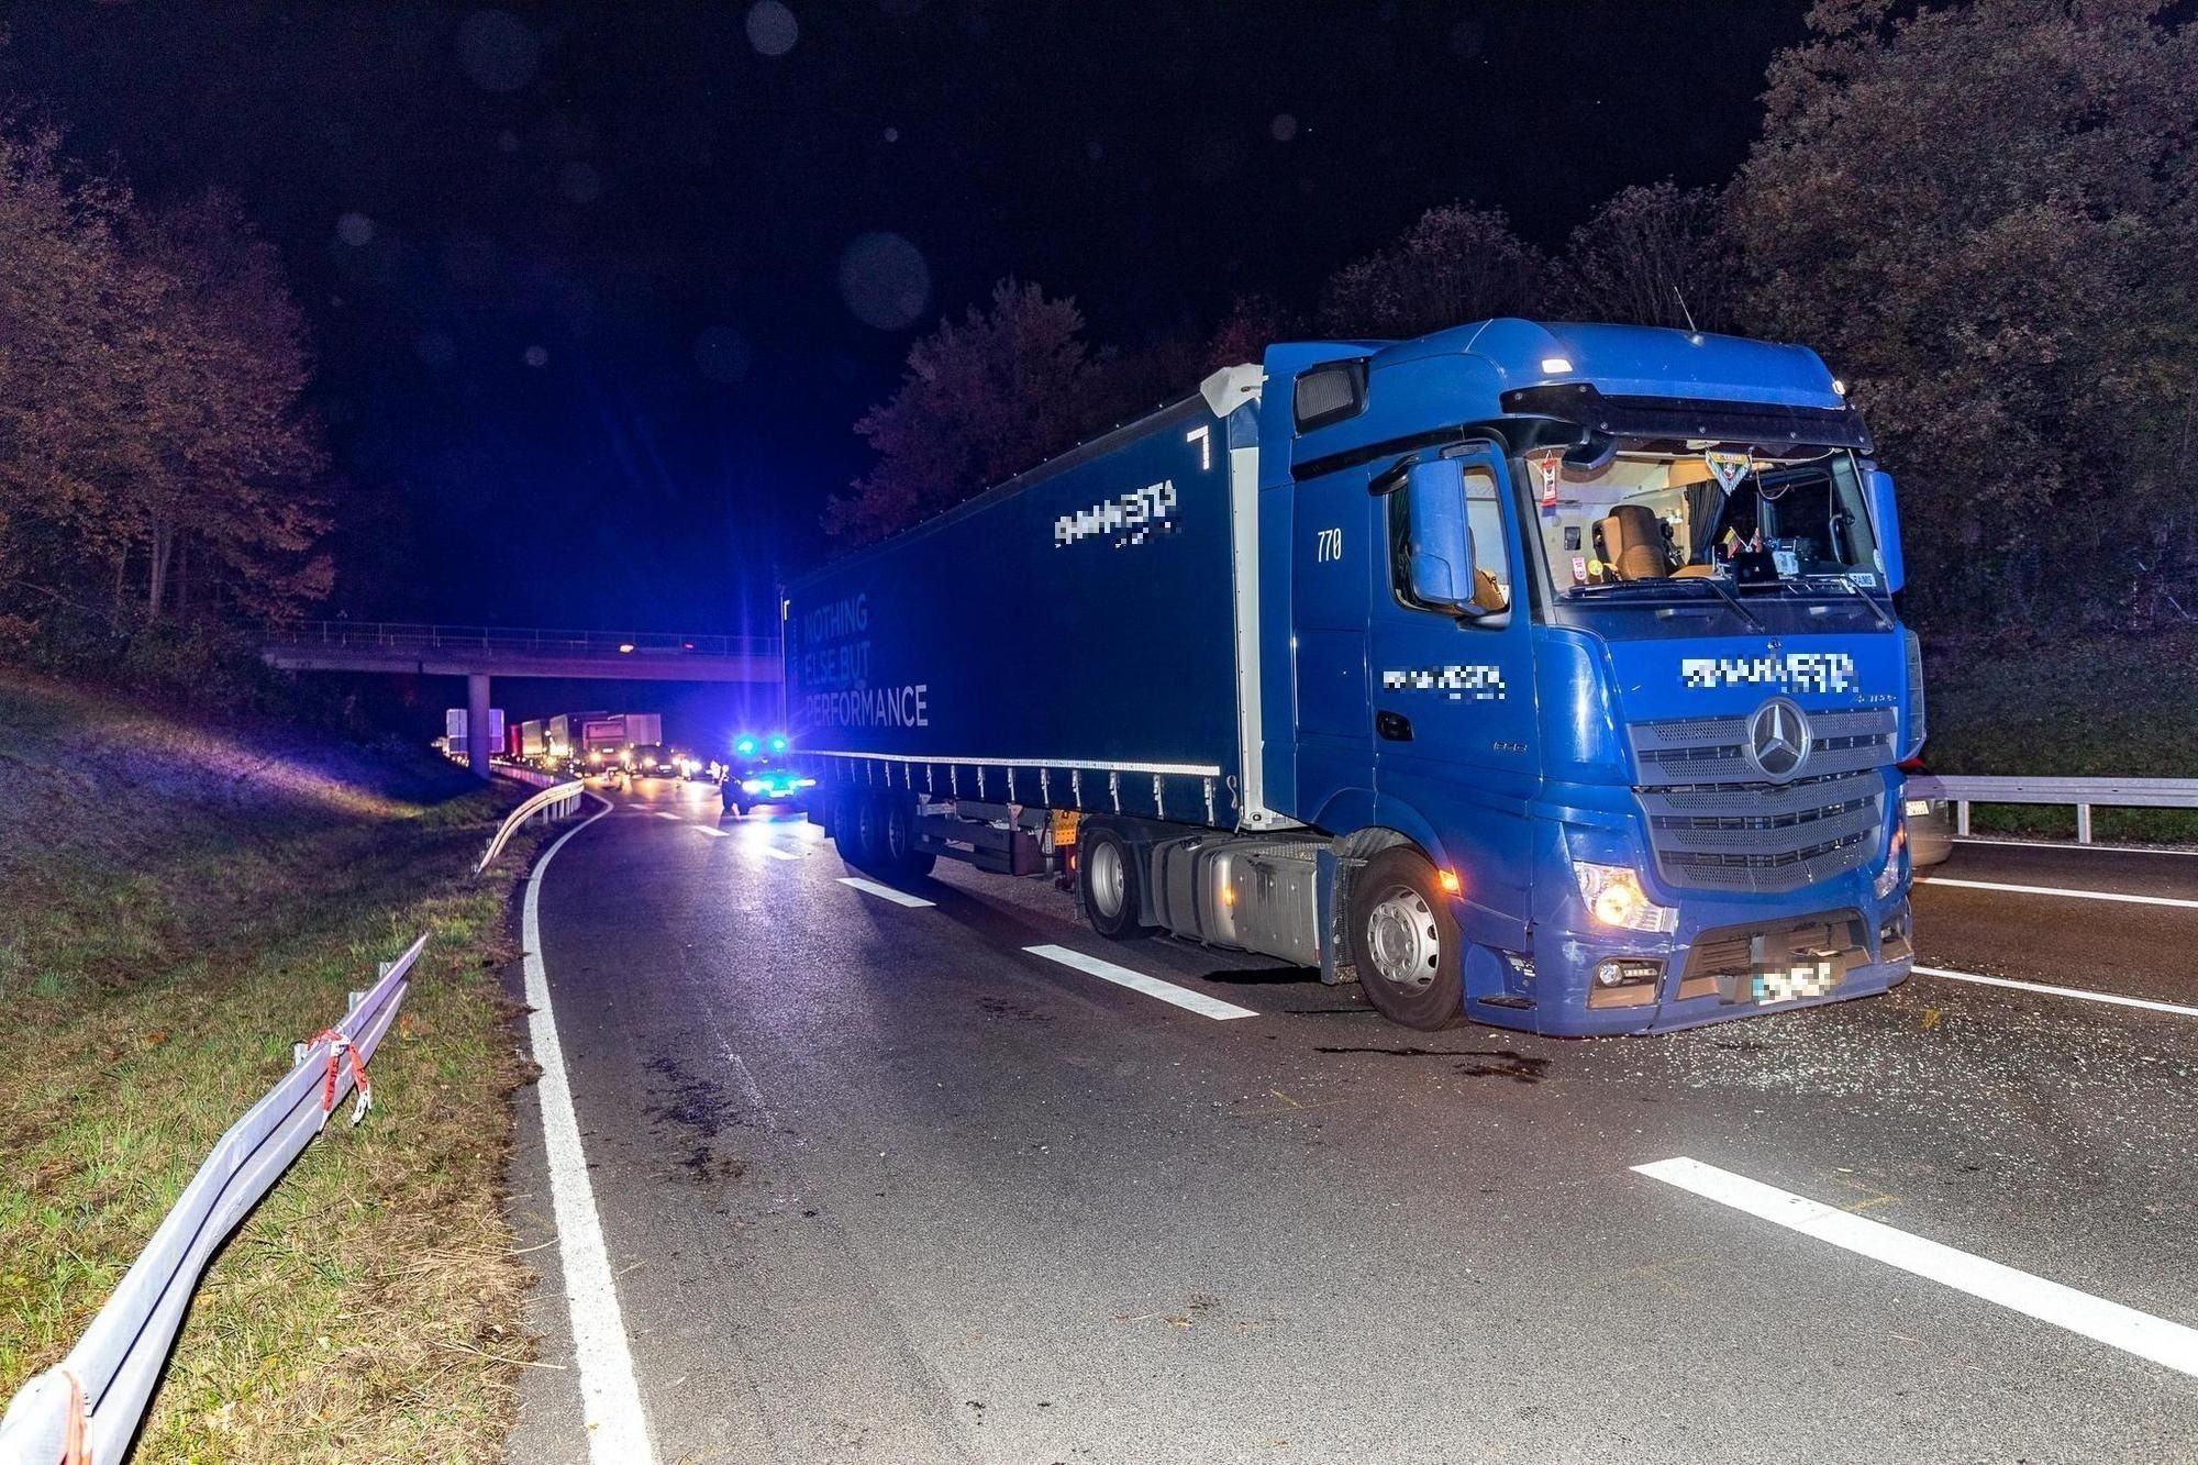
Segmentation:
[(1925, 1241), (1884, 1221), (1866, 1221), (1684, 1155), (1633, 1166), (1633, 1170), (1666, 1186), (1690, 1190), (1719, 1205), (1730, 1205), (1732, 1210), (1800, 1232), (1802, 1236), (1829, 1241), (1857, 1256), (1868, 1256), (1930, 1282), (1965, 1291), (1972, 1298), (1998, 1302), (2024, 1318), (2051, 1322), (2053, 1326), (2082, 1333), (2176, 1373), (2198, 1377), (2198, 1329), (2187, 1329), (2180, 1322), (2167, 1322), (2134, 1307), (2108, 1302), (2088, 1291), (2062, 1287), (2060, 1282), (2002, 1267), (1969, 1252), (1956, 1252), (1950, 1245)]

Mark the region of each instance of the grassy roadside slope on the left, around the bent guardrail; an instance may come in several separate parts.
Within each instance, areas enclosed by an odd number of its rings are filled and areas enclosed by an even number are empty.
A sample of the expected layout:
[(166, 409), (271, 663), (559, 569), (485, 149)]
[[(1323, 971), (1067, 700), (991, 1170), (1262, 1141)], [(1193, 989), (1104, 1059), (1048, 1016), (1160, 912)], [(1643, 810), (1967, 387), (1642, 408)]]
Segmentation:
[(0, 1395), (68, 1351), (290, 1043), (429, 930), (374, 1115), (314, 1139), (207, 1271), (136, 1458), (499, 1456), (523, 1073), (510, 884), (464, 871), (517, 796), (0, 675)]

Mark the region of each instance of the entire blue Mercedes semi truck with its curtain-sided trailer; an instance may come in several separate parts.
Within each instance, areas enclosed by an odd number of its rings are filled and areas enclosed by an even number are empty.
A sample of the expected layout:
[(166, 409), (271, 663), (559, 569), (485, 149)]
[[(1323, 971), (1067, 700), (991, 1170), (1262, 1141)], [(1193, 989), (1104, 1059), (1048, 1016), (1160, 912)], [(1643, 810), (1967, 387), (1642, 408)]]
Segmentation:
[(809, 812), (1420, 1029), (1884, 992), (1923, 678), (1870, 453), (1798, 345), (1273, 345), (789, 585)]

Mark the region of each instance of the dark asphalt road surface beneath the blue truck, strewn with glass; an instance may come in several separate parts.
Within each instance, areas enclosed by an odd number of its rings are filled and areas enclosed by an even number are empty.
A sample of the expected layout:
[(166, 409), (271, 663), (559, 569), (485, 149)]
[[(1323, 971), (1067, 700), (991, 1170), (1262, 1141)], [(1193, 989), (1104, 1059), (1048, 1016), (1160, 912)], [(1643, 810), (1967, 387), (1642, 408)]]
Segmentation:
[[(642, 783), (541, 875), (609, 1285), (523, 1102), (545, 1366), (512, 1461), (631, 1458), (569, 1287), (615, 1293), (666, 1463), (2198, 1461), (2161, 1326), (2198, 1326), (2198, 1012), (1914, 977), (1659, 1038), (1429, 1036), (1106, 944), (1044, 882), (941, 867), (906, 906), (851, 873)], [(2198, 902), (2198, 856), (1939, 875), (1925, 966), (2198, 1007), (2194, 906), (1947, 884)], [(1747, 1181), (1831, 1210), (1796, 1230)]]

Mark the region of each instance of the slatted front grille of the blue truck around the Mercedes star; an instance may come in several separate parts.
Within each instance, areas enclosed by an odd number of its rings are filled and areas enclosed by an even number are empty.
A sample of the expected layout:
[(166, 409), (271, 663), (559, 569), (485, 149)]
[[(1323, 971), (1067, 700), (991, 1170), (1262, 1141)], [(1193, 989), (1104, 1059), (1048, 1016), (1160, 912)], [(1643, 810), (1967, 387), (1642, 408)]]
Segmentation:
[(1860, 867), (1877, 849), (1892, 761), (1890, 708), (1813, 713), (1807, 779), (1747, 761), (1745, 717), (1631, 726), (1657, 869), (1673, 886), (1776, 895)]

